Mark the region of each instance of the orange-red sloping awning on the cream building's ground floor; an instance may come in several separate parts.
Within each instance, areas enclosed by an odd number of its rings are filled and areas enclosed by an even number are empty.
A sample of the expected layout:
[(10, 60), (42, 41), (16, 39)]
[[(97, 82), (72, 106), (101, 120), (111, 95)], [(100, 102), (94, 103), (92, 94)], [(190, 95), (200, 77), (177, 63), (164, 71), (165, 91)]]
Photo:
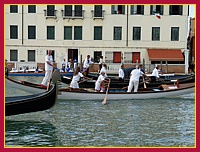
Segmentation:
[(184, 61), (181, 50), (147, 49), (151, 61)]

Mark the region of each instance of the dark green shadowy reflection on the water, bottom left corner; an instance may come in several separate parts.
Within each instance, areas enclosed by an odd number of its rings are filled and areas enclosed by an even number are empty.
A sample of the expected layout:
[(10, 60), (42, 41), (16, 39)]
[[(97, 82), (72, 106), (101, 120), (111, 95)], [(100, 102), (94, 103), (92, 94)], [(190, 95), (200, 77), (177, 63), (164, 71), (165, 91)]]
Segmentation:
[(49, 122), (6, 120), (6, 146), (35, 147), (61, 145), (55, 130), (56, 128)]

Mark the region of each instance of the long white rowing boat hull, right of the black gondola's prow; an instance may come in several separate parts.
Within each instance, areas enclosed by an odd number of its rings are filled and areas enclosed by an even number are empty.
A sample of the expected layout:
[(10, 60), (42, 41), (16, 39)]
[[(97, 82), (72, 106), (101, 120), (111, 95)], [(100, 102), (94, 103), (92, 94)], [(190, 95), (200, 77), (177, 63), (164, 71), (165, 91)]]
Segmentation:
[[(169, 98), (187, 93), (194, 92), (194, 83), (179, 84), (179, 88), (174, 85), (163, 85), (162, 88), (140, 88), (138, 92), (128, 93), (126, 89), (109, 89), (108, 100), (124, 100), (124, 99), (153, 99), (153, 98)], [(59, 88), (59, 99), (70, 100), (103, 100), (105, 92), (95, 92), (94, 89), (83, 89), (80, 91), (70, 91), (69, 88)]]

